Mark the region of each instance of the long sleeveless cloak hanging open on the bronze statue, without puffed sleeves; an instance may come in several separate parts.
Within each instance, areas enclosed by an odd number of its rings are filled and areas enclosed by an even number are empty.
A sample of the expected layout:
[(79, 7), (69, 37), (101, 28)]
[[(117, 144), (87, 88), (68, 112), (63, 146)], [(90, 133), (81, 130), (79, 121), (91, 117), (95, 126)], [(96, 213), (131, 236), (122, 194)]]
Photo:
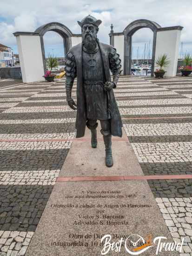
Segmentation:
[[(110, 69), (109, 69), (109, 53), (112, 50), (111, 45), (100, 43), (98, 40), (101, 57), (103, 60), (104, 73), (106, 81), (111, 81)], [(76, 138), (83, 137), (86, 129), (86, 102), (85, 94), (83, 92), (83, 72), (82, 72), (82, 43), (72, 47), (69, 50), (75, 57), (77, 68), (77, 116), (75, 128), (77, 129)], [(107, 92), (108, 94), (108, 108), (111, 113), (111, 133), (113, 136), (122, 137), (122, 121), (119, 114), (117, 102), (114, 97), (113, 89)]]

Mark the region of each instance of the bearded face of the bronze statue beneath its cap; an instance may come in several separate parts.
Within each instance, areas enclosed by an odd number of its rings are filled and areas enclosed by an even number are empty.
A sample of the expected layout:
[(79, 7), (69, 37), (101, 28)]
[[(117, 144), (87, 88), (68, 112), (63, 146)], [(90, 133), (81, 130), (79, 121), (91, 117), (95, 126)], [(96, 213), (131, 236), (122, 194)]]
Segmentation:
[(91, 23), (84, 24), (82, 27), (82, 40), (87, 50), (94, 50), (97, 46), (98, 28)]

